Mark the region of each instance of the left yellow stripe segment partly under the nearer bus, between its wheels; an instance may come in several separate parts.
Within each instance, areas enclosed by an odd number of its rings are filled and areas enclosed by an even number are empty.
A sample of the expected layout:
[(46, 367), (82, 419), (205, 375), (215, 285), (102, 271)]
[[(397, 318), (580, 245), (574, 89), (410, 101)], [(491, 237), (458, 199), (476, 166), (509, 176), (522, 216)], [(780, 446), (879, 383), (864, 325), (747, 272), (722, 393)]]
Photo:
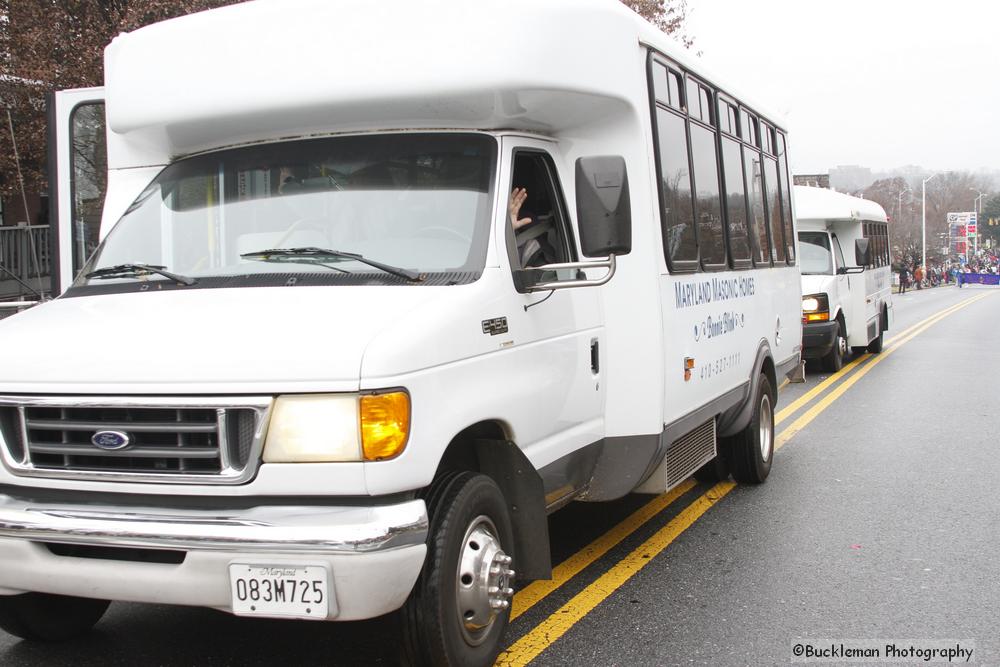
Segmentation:
[(662, 512), (668, 505), (693, 489), (695, 483), (686, 480), (667, 493), (660, 494), (630, 514), (624, 521), (576, 552), (552, 569), (552, 578), (533, 581), (514, 596), (510, 620), (531, 609), (552, 591), (575, 577), (615, 545), (635, 532), (640, 526)]

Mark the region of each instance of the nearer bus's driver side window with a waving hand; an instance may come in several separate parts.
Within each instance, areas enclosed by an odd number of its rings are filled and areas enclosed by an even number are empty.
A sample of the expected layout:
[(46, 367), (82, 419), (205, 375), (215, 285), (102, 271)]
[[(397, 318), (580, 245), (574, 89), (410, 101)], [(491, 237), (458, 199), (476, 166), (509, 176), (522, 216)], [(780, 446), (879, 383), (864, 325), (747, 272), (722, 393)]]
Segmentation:
[(520, 206), (510, 206), (516, 252), (511, 265), (526, 269), (574, 261), (566, 207), (551, 158), (540, 151), (516, 151), (511, 180), (511, 192), (522, 192), (516, 199)]

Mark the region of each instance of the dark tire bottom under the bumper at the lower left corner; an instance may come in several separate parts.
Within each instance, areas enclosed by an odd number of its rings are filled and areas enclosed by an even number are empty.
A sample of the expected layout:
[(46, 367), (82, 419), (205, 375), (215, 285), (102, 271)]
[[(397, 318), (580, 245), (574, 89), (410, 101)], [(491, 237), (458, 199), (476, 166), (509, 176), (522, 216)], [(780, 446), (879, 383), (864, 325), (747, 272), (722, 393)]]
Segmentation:
[(65, 641), (93, 628), (109, 604), (108, 600), (49, 593), (3, 596), (0, 597), (0, 628), (21, 639)]

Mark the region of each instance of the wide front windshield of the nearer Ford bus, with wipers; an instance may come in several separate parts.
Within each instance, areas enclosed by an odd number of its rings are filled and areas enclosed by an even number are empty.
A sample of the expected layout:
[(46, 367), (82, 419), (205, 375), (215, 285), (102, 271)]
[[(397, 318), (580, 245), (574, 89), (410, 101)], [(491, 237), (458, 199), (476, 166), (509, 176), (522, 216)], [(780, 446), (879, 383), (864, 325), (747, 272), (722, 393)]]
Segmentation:
[(202, 286), (233, 276), (254, 284), (289, 274), (395, 284), (475, 275), (486, 259), (496, 156), (487, 135), (421, 133), (181, 160), (128, 208), (76, 285), (171, 276)]

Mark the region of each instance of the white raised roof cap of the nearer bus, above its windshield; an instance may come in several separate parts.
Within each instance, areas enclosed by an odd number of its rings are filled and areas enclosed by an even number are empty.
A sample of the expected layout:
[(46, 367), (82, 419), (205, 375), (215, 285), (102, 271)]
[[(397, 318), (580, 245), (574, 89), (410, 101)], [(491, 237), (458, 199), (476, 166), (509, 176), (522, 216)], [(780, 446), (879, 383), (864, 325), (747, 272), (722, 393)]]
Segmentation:
[(107, 48), (121, 139), (109, 163), (330, 132), (559, 135), (648, 113), (640, 44), (737, 94), (618, 0), (256, 0), (191, 14)]

